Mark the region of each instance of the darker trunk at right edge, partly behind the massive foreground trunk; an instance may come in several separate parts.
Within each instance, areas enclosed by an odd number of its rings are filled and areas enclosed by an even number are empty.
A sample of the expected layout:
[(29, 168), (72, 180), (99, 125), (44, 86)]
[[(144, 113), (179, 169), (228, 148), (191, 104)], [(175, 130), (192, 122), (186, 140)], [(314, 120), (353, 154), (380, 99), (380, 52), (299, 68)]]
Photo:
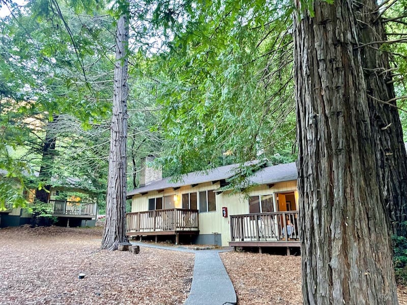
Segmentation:
[[(374, 0), (355, 7), (359, 44), (385, 41), (386, 35)], [(407, 156), (400, 117), (394, 100), (394, 86), (388, 53), (381, 44), (360, 48), (366, 82), (370, 125), (374, 139), (374, 157), (379, 167), (377, 179), (383, 192), (393, 233), (407, 236)], [(387, 104), (386, 102), (392, 100)]]

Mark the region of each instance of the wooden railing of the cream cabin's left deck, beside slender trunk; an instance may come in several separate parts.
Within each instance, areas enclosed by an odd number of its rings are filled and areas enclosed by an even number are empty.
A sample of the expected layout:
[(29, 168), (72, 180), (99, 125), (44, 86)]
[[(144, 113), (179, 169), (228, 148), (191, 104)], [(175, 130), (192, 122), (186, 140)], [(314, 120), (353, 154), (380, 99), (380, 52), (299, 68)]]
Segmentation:
[(126, 232), (197, 231), (198, 210), (161, 209), (126, 214)]

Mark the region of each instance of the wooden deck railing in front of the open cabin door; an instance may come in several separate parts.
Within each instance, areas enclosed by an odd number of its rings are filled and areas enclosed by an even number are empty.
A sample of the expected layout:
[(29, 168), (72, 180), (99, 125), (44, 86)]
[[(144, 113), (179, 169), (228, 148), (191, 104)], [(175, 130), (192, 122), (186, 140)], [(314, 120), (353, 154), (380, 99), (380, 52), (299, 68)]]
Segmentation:
[(231, 241), (250, 242), (298, 241), (298, 211), (231, 215), (230, 238)]

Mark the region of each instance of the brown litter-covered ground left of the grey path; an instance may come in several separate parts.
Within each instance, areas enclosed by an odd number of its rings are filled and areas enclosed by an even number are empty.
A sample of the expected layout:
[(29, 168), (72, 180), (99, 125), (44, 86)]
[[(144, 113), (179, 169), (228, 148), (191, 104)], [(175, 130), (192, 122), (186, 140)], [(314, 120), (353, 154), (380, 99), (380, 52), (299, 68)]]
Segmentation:
[[(0, 304), (182, 304), (194, 255), (100, 250), (102, 228), (0, 229)], [(80, 272), (85, 278), (78, 279)]]

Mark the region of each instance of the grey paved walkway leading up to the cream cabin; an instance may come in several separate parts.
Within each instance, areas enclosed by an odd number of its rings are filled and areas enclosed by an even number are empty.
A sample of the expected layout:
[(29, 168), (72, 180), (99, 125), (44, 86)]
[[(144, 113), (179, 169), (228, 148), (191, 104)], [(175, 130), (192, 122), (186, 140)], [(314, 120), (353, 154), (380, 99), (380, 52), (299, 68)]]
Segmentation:
[(182, 247), (166, 247), (143, 242), (133, 242), (140, 247), (151, 247), (195, 254), (191, 291), (184, 305), (229, 305), (236, 304), (236, 292), (227, 275), (219, 252), (230, 250), (191, 250)]

